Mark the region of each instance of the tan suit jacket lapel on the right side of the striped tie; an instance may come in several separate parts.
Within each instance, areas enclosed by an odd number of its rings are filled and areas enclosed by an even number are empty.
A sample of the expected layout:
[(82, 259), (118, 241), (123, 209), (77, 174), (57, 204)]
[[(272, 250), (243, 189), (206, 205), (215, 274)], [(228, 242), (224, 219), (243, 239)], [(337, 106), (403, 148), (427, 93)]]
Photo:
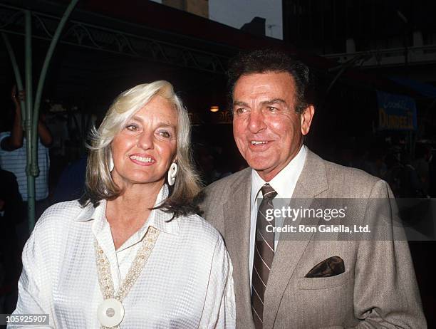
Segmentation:
[[(310, 206), (311, 198), (326, 189), (328, 184), (325, 164), (321, 157), (308, 150), (292, 198), (298, 198), (299, 206), (304, 209)], [(312, 235), (313, 233), (300, 234), (298, 241), (289, 239), (289, 235), (288, 239), (280, 239), (265, 291), (264, 328), (274, 327), (281, 298)]]

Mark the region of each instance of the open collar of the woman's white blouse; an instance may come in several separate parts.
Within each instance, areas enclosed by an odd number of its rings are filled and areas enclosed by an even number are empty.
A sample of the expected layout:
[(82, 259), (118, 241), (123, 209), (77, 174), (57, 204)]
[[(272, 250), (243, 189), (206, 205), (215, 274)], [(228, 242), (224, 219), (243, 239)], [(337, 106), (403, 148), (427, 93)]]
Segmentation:
[[(162, 202), (165, 201), (168, 197), (168, 187), (165, 184), (162, 189), (160, 189), (159, 194), (157, 194), (155, 206), (157, 207)], [(103, 224), (106, 221), (106, 200), (103, 199), (98, 203), (97, 207), (93, 207), (92, 204), (88, 204), (83, 208), (80, 214), (76, 217), (76, 221), (96, 221), (96, 225), (103, 228)], [(163, 211), (162, 209), (154, 209), (151, 211), (149, 218), (145, 221), (145, 224), (137, 231), (137, 233), (145, 233), (148, 229), (148, 226), (153, 226), (160, 231), (169, 233), (169, 234), (178, 234), (179, 233), (179, 224), (177, 219), (172, 218), (172, 213)], [(98, 224), (97, 224), (98, 223)]]

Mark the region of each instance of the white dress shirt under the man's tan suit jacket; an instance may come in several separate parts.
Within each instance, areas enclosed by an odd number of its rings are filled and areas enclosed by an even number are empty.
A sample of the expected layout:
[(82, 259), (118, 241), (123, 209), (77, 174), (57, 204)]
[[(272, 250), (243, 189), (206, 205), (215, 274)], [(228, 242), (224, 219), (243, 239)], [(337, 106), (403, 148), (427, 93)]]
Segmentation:
[[(301, 171), (303, 170), (304, 161), (306, 160), (306, 146), (302, 146), (297, 153), (297, 155), (292, 159), (286, 167), (281, 169), (279, 174), (268, 182), (273, 189), (277, 192), (277, 196), (273, 199), (274, 207), (279, 208), (279, 199), (291, 199), (292, 194), (294, 194), (294, 189), (296, 182), (299, 180)], [(249, 270), (250, 270), (250, 286), (251, 286), (251, 273), (253, 271), (253, 261), (254, 261), (254, 242), (256, 241), (256, 219), (257, 219), (257, 209), (258, 200), (262, 199), (261, 187), (267, 182), (262, 179), (256, 170), (251, 171), (251, 218), (250, 218), (250, 258), (249, 258)], [(261, 201), (259, 201), (261, 202)], [(280, 204), (281, 206), (281, 204)], [(281, 226), (283, 224), (283, 218), (279, 217), (275, 219), (275, 226)], [(274, 251), (277, 249), (277, 244), (279, 244), (279, 233), (276, 232), (274, 235)]]

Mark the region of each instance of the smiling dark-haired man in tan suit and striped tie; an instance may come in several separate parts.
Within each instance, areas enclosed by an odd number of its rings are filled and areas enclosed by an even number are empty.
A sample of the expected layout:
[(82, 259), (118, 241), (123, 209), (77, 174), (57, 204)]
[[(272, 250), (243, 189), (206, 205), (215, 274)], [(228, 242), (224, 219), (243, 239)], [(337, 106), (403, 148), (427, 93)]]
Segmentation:
[(262, 226), (275, 199), (390, 194), (382, 180), (303, 145), (315, 112), (309, 85), (308, 68), (277, 51), (229, 67), (234, 139), (250, 168), (209, 185), (202, 209), (232, 258), (237, 326), (426, 328), (406, 241), (289, 239)]

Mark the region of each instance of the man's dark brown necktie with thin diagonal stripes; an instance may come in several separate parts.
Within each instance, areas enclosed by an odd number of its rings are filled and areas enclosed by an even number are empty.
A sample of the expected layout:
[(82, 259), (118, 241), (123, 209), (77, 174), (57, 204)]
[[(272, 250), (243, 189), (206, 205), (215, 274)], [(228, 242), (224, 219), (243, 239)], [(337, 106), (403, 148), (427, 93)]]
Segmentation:
[[(274, 216), (266, 219), (268, 209), (274, 209), (272, 200), (277, 192), (268, 184), (261, 187), (262, 202), (257, 211), (256, 241), (254, 242), (253, 273), (251, 275), (251, 309), (256, 329), (262, 328), (264, 320), (264, 296), (269, 271), (274, 258), (274, 232), (266, 231), (266, 226), (274, 226)], [(269, 214), (271, 217), (271, 214)]]

